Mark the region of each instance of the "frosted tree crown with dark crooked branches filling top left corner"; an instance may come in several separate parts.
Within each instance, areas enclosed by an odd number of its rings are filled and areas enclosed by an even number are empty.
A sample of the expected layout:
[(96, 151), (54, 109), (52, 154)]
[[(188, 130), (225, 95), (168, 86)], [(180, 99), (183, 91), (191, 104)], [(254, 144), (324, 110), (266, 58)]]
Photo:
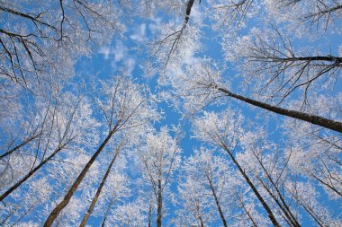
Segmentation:
[(114, 3), (102, 0), (3, 1), (0, 12), (8, 22), (0, 28), (0, 75), (32, 92), (36, 83), (71, 76), (75, 57), (117, 29)]

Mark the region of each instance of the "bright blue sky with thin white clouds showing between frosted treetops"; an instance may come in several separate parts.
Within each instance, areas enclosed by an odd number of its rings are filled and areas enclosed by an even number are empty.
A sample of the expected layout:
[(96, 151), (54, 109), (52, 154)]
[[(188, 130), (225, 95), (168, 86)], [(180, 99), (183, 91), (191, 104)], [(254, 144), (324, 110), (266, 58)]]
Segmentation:
[[(205, 11), (205, 3), (198, 4), (195, 1), (193, 6), (193, 11), (191, 14), (191, 22), (197, 22), (202, 24), (202, 39), (201, 40), (201, 50), (193, 51), (189, 48), (187, 52), (188, 55), (184, 57), (184, 65), (192, 65), (197, 61), (201, 61), (202, 57), (211, 57), (213, 60), (219, 62), (221, 65), (225, 65), (225, 56), (220, 43), (223, 42), (220, 37), (218, 37), (218, 31), (211, 30), (212, 22), (206, 22), (203, 19), (203, 13)], [(262, 12), (260, 13), (262, 14)], [(171, 89), (170, 87), (163, 87), (158, 83), (160, 74), (152, 72), (149, 74), (147, 72), (147, 64), (153, 61), (153, 56), (148, 53), (148, 45), (151, 45), (151, 38), (157, 34), (157, 29), (161, 26), (162, 22), (170, 19), (170, 16), (159, 13), (155, 18), (149, 19), (139, 19), (133, 18), (130, 24), (124, 26), (124, 32), (121, 36), (114, 36), (111, 41), (107, 44), (103, 44), (100, 47), (94, 48), (93, 54), (90, 57), (81, 57), (76, 63), (76, 76), (70, 80), (67, 89), (72, 89), (73, 84), (77, 84), (80, 81), (84, 81), (85, 84), (90, 84), (94, 78), (99, 78), (102, 80), (110, 79), (115, 74), (121, 74), (124, 71), (126, 74), (130, 74), (137, 82), (144, 84), (150, 91), (157, 94), (160, 91), (167, 91)], [(182, 19), (178, 19), (181, 21)], [(339, 20), (338, 22), (340, 22)], [(246, 29), (240, 32), (240, 35), (247, 34), (247, 31), (251, 27), (258, 27), (260, 23), (259, 20), (249, 20), (247, 22)], [(338, 23), (337, 23), (338, 25)], [(227, 31), (228, 32), (228, 31)], [(297, 39), (294, 46), (301, 47), (302, 45), (310, 43), (310, 47), (323, 50), (324, 55), (341, 55), (341, 36), (340, 33), (323, 35), (322, 39), (316, 39), (311, 41), (311, 39), (306, 39), (305, 34), (302, 39)], [(340, 46), (340, 49), (336, 48)], [(330, 49), (329, 51), (326, 51)], [(223, 72), (224, 79), (231, 82), (230, 87), (232, 92), (243, 92), (243, 89), (239, 86), (241, 79), (234, 77), (237, 74), (237, 70), (234, 69), (234, 64), (229, 63), (226, 65), (227, 68)], [(177, 70), (182, 71), (182, 67), (173, 69), (174, 71), (168, 71), (167, 73), (177, 72)], [(172, 75), (171, 75), (172, 76)], [(231, 80), (230, 80), (231, 79)], [(329, 93), (331, 95), (342, 92), (342, 82), (338, 80), (335, 85), (333, 92)], [(247, 119), (244, 123), (246, 127), (250, 127), (253, 123), (257, 123), (263, 127), (266, 127), (268, 133), (270, 134), (270, 139), (283, 146), (286, 144), (286, 137), (282, 137), (282, 131), (279, 125), (283, 124), (284, 117), (275, 114), (269, 114), (262, 109), (251, 108), (247, 104), (242, 103), (238, 100), (229, 100), (229, 98), (223, 98), (227, 101), (222, 106), (209, 106), (205, 110), (208, 111), (220, 111), (226, 109), (230, 106), (233, 109), (238, 109), (241, 111), (245, 118)], [(188, 157), (193, 154), (194, 149), (199, 149), (203, 144), (193, 138), (193, 127), (188, 118), (183, 118), (182, 114), (175, 109), (174, 103), (171, 101), (163, 100), (158, 104), (158, 110), (163, 113), (163, 118), (155, 124), (155, 127), (159, 130), (160, 127), (172, 125), (181, 125), (184, 130), (185, 136), (180, 142), (180, 147), (183, 150), (182, 155)], [(250, 124), (249, 124), (250, 122)], [(279, 130), (278, 130), (279, 129)], [(323, 131), (322, 134), (325, 132)], [(137, 167), (130, 162), (127, 170), (130, 172), (132, 178), (137, 178), (136, 175)], [(177, 177), (175, 177), (177, 179)], [(172, 191), (175, 192), (176, 184), (171, 187)], [(329, 204), (329, 208), (332, 210), (331, 214), (338, 216), (340, 218), (340, 199), (336, 201), (330, 201), (329, 196), (320, 188), (320, 201)], [(77, 196), (77, 195), (76, 195)], [(10, 199), (7, 200), (7, 202)], [(168, 223), (173, 217), (175, 217), (175, 207), (171, 205), (169, 200), (166, 200), (166, 206), (169, 208), (168, 213), (164, 219), (164, 223)], [(36, 211), (39, 212), (39, 211)], [(302, 212), (301, 212), (302, 213)], [(32, 219), (31, 216), (27, 216), (27, 220)], [(102, 217), (97, 218), (91, 216), (88, 223), (92, 226), (97, 226), (102, 221)], [(307, 214), (302, 213), (302, 225), (310, 226), (311, 221), (309, 220)], [(220, 220), (217, 222), (217, 226), (220, 226)]]

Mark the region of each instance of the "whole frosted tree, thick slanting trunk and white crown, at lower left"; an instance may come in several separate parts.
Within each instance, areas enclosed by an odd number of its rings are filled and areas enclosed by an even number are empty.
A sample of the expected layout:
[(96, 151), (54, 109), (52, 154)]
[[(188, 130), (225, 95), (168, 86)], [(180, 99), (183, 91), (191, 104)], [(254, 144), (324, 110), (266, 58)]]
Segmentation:
[(85, 164), (85, 167), (67, 191), (67, 195), (49, 214), (44, 226), (51, 226), (58, 214), (67, 206), (79, 184), (85, 178), (87, 171), (99, 154), (103, 152), (106, 144), (112, 139), (112, 135), (116, 135), (127, 128), (144, 126), (150, 120), (157, 119), (157, 114), (150, 106), (151, 103), (148, 103), (150, 100), (142, 96), (140, 89), (139, 85), (132, 83), (127, 76), (117, 76), (112, 83), (106, 82), (102, 84), (101, 90), (103, 93), (96, 102), (103, 112), (104, 124), (108, 127), (108, 132), (102, 144)]

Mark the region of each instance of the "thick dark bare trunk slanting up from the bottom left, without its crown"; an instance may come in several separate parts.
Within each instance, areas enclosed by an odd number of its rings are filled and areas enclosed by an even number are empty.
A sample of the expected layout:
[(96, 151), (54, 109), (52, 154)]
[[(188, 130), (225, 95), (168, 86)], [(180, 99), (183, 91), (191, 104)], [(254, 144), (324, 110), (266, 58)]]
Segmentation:
[(85, 168), (81, 171), (81, 173), (78, 175), (77, 179), (74, 181), (74, 184), (71, 186), (71, 188), (67, 191), (67, 195), (64, 197), (64, 199), (53, 209), (51, 214), (49, 214), (48, 219), (44, 223), (44, 227), (49, 227), (52, 225), (52, 223), (57, 218), (58, 214), (63, 210), (64, 207), (67, 206), (68, 202), (70, 201), (71, 197), (75, 194), (76, 189), (78, 188), (81, 181), (85, 178), (86, 172), (90, 169), (90, 167), (93, 165), (95, 159), (97, 156), (103, 151), (103, 148), (105, 144), (108, 143), (108, 141), (111, 139), (112, 135), (116, 131), (116, 127), (112, 129), (112, 131), (107, 135), (107, 137), (104, 139), (103, 143), (100, 145), (100, 147), (97, 149), (97, 151), (94, 153), (93, 157), (89, 160), (89, 162), (86, 163)]

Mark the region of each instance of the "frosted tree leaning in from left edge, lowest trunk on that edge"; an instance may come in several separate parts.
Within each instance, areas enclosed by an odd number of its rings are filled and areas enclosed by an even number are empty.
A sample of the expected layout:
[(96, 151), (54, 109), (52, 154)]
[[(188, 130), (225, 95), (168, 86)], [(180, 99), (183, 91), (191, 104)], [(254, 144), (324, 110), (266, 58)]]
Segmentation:
[[(75, 99), (73, 100), (73, 97), (71, 96), (68, 97), (71, 103), (63, 103), (59, 100), (60, 98), (63, 99), (65, 97), (56, 98), (54, 105), (49, 101), (46, 109), (43, 110), (44, 114), (41, 119), (40, 133), (37, 136), (30, 137), (31, 140), (27, 142), (29, 143), (34, 140), (34, 143), (31, 146), (25, 147), (25, 150), (19, 152), (16, 150), (19, 148), (23, 149), (23, 147), (16, 146), (14, 148), (17, 149), (9, 151), (11, 153), (4, 153), (4, 157), (10, 154), (17, 157), (25, 156), (26, 159), (31, 162), (26, 173), (21, 176), (21, 179), (18, 179), (11, 188), (6, 189), (2, 193), (0, 201), (3, 201), (6, 196), (9, 196), (16, 188), (19, 188), (23, 182), (30, 179), (47, 162), (55, 160), (55, 156), (67, 149), (67, 145), (70, 145), (71, 147), (71, 144), (76, 143), (77, 139), (84, 136), (87, 128), (77, 125), (76, 121), (79, 119), (89, 120), (86, 115), (80, 113), (80, 104), (85, 105), (85, 101), (76, 97), (74, 97)], [(74, 105), (73, 109), (66, 109), (70, 104)], [(8, 161), (5, 162), (10, 164), (12, 162), (11, 158), (12, 157), (9, 156)]]

